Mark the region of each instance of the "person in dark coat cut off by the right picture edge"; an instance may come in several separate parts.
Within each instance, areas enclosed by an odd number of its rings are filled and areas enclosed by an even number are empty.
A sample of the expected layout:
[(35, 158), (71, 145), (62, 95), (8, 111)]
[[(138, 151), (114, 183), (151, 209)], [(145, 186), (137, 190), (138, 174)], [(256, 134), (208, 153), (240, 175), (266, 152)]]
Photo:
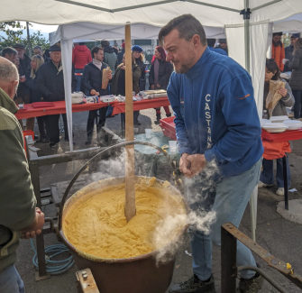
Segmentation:
[(300, 119), (302, 117), (302, 39), (297, 39), (294, 45), (293, 60), (285, 60), (285, 65), (292, 69), (289, 86), (295, 96), (294, 117)]

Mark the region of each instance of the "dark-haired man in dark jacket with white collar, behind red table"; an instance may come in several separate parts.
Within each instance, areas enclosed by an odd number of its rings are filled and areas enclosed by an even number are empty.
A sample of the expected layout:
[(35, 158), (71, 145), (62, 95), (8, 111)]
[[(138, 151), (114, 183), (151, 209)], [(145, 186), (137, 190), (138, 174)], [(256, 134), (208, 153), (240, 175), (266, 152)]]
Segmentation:
[[(109, 95), (108, 87), (102, 89), (103, 80), (103, 69), (108, 67), (107, 64), (103, 62), (104, 60), (104, 50), (100, 47), (95, 47), (91, 50), (91, 56), (93, 57), (92, 62), (88, 63), (83, 72), (82, 87), (90, 93), (91, 96), (106, 96)], [(112, 79), (112, 74), (107, 74), (108, 79)], [(99, 119), (97, 123), (97, 111), (99, 111)], [(92, 134), (94, 131), (94, 124), (96, 119), (96, 132), (100, 132), (102, 127), (105, 125), (105, 114), (107, 112), (107, 107), (100, 108), (99, 110), (89, 111), (88, 121), (87, 121), (87, 142), (86, 144), (91, 144)]]

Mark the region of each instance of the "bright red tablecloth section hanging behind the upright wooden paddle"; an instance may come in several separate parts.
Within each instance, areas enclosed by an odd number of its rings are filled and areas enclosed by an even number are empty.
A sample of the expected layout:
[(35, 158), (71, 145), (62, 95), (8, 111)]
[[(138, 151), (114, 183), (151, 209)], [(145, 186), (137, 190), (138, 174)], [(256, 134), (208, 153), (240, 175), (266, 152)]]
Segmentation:
[[(165, 106), (165, 105), (169, 105), (168, 97), (160, 97), (160, 98), (136, 101), (136, 102), (133, 102), (133, 111), (157, 108), (157, 107)], [(124, 111), (125, 111), (125, 103), (114, 104), (113, 114), (124, 113)]]

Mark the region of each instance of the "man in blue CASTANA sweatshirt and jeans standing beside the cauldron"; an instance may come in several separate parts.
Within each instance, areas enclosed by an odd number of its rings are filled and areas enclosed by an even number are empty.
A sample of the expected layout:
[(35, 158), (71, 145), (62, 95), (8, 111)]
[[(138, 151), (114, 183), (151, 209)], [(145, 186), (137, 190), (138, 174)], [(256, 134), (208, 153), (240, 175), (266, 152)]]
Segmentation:
[[(189, 194), (197, 195), (191, 207), (216, 213), (210, 234), (190, 233), (193, 277), (169, 292), (215, 292), (212, 242), (220, 246), (222, 224), (239, 226), (260, 177), (263, 147), (252, 81), (234, 60), (207, 48), (205, 30), (191, 14), (171, 20), (160, 30), (159, 39), (175, 70), (168, 96), (175, 113), (179, 169), (187, 178)], [(213, 161), (218, 172), (205, 188), (205, 167)], [(256, 266), (243, 243), (237, 244), (237, 265)], [(238, 292), (260, 290), (258, 273), (243, 270), (240, 277)]]

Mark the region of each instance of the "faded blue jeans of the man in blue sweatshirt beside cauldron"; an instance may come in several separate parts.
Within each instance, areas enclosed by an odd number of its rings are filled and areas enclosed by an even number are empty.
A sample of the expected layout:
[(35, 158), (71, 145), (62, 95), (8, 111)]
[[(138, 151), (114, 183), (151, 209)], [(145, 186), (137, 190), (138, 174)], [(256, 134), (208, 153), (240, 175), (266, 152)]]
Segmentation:
[[(221, 246), (221, 226), (227, 222), (239, 226), (252, 190), (257, 186), (261, 171), (261, 160), (242, 174), (214, 183), (202, 174), (186, 182), (186, 193), (191, 209), (197, 213), (215, 211), (215, 223), (210, 224), (210, 233), (190, 230), (193, 272), (201, 280), (209, 279), (212, 273), (212, 243)], [(210, 173), (210, 172), (207, 172)], [(204, 177), (204, 178), (203, 178)], [(195, 197), (190, 200), (189, 197)], [(237, 241), (237, 265), (256, 266), (252, 252)], [(251, 279), (255, 272), (243, 270), (243, 279)]]

